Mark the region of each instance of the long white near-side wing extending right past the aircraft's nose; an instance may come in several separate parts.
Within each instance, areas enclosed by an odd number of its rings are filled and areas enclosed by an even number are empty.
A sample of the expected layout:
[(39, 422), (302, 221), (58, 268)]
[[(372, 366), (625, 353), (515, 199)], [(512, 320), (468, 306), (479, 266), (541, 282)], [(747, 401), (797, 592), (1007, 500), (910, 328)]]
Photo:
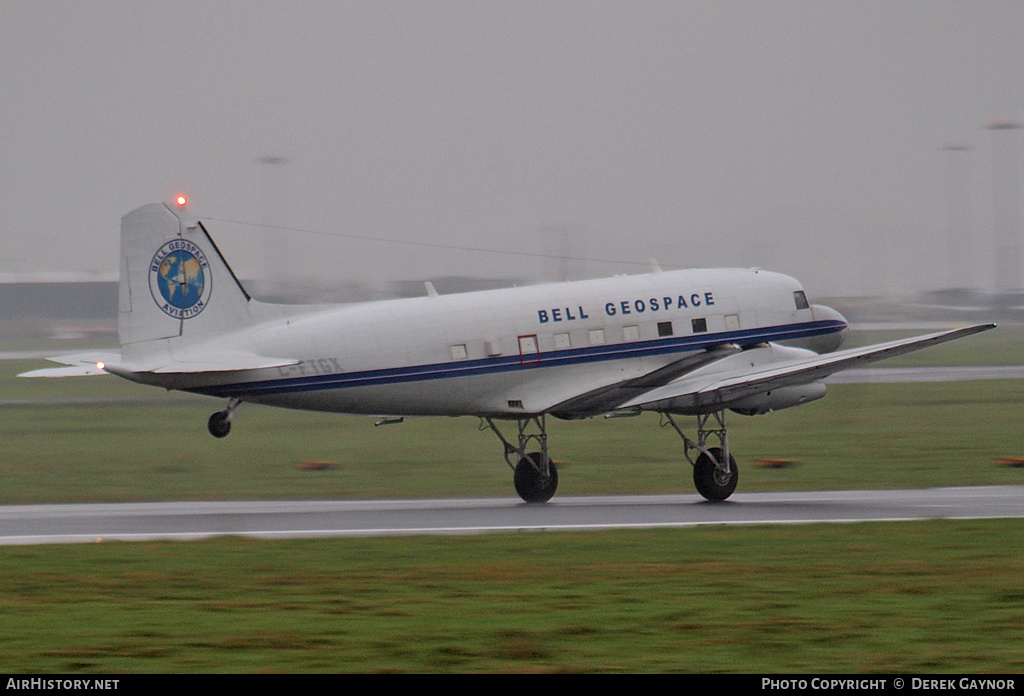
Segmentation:
[(616, 410), (706, 412), (773, 390), (810, 385), (834, 373), (994, 329), (986, 323), (818, 355), (766, 345), (732, 354), (618, 404)]

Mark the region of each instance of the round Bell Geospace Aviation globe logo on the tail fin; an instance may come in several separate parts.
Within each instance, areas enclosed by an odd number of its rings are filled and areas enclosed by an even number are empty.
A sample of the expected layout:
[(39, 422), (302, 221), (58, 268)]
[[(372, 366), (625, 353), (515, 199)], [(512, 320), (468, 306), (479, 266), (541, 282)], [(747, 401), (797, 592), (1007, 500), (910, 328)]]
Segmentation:
[(175, 319), (189, 319), (206, 308), (213, 276), (206, 255), (186, 240), (168, 242), (150, 262), (150, 292), (157, 306)]

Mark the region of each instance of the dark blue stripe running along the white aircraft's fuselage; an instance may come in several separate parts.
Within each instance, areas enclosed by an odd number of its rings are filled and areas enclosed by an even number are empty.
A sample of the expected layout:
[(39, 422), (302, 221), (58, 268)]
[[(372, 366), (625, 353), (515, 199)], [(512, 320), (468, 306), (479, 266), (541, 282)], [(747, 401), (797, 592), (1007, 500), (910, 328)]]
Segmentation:
[[(803, 323), (769, 327), (746, 331), (722, 332), (719, 334), (695, 334), (691, 336), (667, 337), (649, 341), (618, 343), (586, 348), (567, 348), (540, 353), (539, 359), (523, 362), (516, 355), (500, 357), (459, 360), (458, 362), (440, 362), (408, 367), (386, 367), (368, 369), (357, 373), (337, 373), (330, 375), (310, 375), (305, 377), (289, 377), (259, 382), (238, 382), (226, 385), (211, 385), (195, 387), (184, 391), (207, 396), (256, 396), (267, 394), (287, 394), (305, 391), (322, 391), (326, 389), (346, 389), (349, 387), (366, 387), (402, 382), (421, 382), (425, 380), (451, 379), (505, 373), (515, 369), (537, 369), (605, 360), (622, 360), (633, 357), (664, 355), (666, 353), (682, 353), (705, 350), (724, 344), (739, 346), (756, 345), (769, 341), (787, 341), (812, 336), (822, 336), (843, 331), (847, 324), (842, 321), (809, 321)], [(531, 356), (532, 357), (532, 356)]]

